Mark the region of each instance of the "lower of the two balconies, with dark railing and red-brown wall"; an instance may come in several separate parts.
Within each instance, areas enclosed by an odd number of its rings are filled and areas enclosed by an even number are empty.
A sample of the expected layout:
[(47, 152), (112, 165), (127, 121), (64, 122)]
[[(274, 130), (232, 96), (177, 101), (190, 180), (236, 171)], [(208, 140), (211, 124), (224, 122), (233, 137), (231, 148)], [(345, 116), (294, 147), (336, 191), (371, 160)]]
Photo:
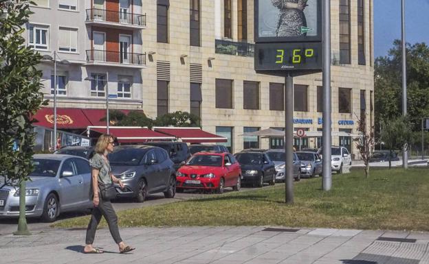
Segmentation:
[(87, 65), (144, 69), (146, 68), (146, 53), (89, 49), (87, 50)]

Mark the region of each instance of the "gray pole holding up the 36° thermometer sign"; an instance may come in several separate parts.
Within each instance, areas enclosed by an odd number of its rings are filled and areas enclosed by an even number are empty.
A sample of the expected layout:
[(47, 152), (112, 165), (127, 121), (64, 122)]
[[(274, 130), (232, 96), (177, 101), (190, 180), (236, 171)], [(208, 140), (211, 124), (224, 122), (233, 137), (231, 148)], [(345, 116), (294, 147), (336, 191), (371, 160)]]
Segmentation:
[(287, 73), (285, 77), (285, 188), (286, 203), (294, 203), (294, 77)]

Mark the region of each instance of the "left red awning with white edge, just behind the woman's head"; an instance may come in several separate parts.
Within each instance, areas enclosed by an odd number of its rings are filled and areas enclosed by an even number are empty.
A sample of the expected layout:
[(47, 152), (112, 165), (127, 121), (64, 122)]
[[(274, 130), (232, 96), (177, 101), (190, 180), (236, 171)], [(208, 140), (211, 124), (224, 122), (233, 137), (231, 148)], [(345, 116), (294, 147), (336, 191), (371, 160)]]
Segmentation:
[[(88, 127), (89, 130), (102, 134), (107, 133), (106, 127)], [(168, 136), (155, 132), (148, 128), (140, 127), (109, 127), (109, 134), (115, 136), (119, 143), (144, 143), (148, 141), (173, 140), (174, 136)]]

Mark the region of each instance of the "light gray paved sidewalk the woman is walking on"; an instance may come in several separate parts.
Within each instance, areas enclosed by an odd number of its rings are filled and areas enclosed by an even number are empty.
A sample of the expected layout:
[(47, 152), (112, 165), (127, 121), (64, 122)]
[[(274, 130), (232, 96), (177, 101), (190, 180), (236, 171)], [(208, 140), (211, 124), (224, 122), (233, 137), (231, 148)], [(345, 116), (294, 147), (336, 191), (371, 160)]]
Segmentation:
[(83, 254), (85, 230), (0, 237), (0, 263), (427, 264), (429, 233), (264, 227), (122, 228), (137, 250), (118, 254), (106, 228)]

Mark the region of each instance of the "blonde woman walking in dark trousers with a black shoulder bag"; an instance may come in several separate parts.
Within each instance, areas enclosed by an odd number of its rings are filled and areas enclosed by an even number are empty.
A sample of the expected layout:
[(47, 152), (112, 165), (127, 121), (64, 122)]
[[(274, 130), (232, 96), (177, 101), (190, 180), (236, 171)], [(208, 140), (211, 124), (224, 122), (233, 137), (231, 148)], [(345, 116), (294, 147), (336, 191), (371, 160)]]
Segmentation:
[(83, 250), (85, 253), (103, 253), (102, 250), (94, 248), (92, 245), (96, 236), (97, 226), (100, 224), (102, 216), (104, 216), (109, 225), (113, 240), (118, 244), (119, 252), (126, 253), (135, 250), (135, 248), (131, 248), (122, 241), (119, 234), (118, 217), (110, 202), (115, 196), (113, 182), (118, 183), (121, 188), (124, 188), (121, 180), (114, 177), (111, 173), (109, 160), (107, 159), (107, 154), (111, 152), (113, 152), (113, 136), (102, 134), (96, 144), (96, 154), (90, 160), (92, 172), (91, 197), (94, 208), (92, 209), (91, 221), (89, 221), (87, 228), (86, 245)]

